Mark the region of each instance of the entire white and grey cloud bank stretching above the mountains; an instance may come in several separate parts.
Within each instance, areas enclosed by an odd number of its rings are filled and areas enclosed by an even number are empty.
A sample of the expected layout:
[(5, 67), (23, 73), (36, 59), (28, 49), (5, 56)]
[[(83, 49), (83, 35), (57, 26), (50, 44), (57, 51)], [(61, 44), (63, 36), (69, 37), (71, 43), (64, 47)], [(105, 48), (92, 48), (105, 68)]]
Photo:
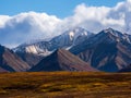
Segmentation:
[(50, 38), (73, 27), (94, 33), (112, 27), (131, 34), (131, 0), (119, 2), (114, 8), (82, 3), (74, 9), (73, 15), (64, 19), (37, 12), (0, 15), (0, 44), (13, 47), (32, 39)]

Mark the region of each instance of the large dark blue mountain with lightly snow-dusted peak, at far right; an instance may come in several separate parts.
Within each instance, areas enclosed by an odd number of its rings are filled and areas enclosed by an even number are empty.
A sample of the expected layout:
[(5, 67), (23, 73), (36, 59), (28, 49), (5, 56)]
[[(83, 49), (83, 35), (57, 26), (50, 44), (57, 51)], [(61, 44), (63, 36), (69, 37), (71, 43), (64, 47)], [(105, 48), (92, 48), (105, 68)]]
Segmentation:
[(124, 38), (120, 32), (109, 28), (71, 51), (98, 70), (118, 72), (131, 63), (131, 44)]

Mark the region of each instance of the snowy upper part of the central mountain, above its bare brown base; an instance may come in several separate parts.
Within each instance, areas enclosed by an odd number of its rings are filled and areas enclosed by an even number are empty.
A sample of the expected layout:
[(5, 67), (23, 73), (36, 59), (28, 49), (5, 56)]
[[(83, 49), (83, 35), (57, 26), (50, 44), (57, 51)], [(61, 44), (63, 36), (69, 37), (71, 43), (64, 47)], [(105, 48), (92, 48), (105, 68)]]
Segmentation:
[(80, 42), (87, 39), (92, 35), (93, 34), (87, 32), (86, 29), (76, 27), (66, 30), (61, 35), (56, 36), (48, 41), (39, 40), (34, 44), (29, 42), (21, 45), (13, 50), (19, 52), (24, 51), (33, 54), (48, 56), (50, 54), (50, 52), (59, 48), (69, 50), (71, 47), (79, 45)]

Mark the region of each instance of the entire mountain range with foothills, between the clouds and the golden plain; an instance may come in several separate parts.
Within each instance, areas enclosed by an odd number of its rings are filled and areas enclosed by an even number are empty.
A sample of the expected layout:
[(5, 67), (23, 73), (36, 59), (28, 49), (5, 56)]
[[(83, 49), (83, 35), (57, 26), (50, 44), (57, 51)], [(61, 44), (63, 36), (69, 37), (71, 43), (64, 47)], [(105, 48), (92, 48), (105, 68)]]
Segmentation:
[[(12, 50), (1, 46), (0, 60), (1, 72), (124, 72), (131, 64), (131, 35), (112, 28), (94, 34), (76, 27), (49, 40), (22, 44)], [(3, 64), (4, 60), (8, 64)]]

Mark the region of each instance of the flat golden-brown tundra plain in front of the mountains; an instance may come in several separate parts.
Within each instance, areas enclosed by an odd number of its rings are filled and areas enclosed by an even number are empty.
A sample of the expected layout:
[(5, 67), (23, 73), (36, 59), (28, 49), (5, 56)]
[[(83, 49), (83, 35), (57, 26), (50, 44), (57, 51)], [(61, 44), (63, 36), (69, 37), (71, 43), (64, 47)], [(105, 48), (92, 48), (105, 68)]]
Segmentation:
[(131, 73), (0, 73), (0, 98), (131, 98)]

